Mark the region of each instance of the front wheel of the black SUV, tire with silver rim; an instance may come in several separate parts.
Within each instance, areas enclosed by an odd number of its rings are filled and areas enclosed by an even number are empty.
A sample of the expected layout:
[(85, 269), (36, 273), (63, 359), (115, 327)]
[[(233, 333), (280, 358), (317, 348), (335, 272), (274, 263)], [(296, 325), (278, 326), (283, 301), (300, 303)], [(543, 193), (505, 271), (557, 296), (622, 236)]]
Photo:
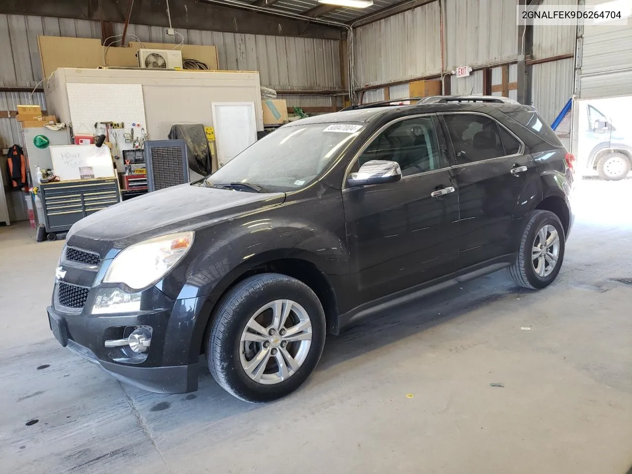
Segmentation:
[[(276, 306), (277, 301), (282, 305)], [(283, 315), (288, 306), (286, 323), (275, 324), (274, 308), (277, 314)], [(267, 309), (261, 311), (265, 307)], [(251, 322), (255, 317), (258, 326)], [(298, 325), (307, 327), (306, 317), (311, 332), (305, 329), (291, 335)], [(318, 297), (306, 284), (281, 274), (255, 275), (236, 284), (218, 303), (211, 324), (206, 351), (211, 375), (230, 394), (252, 403), (282, 398), (298, 389), (312, 374), (325, 344), (325, 314)], [(248, 324), (250, 329), (246, 330)], [(274, 327), (278, 328), (276, 336), (265, 334), (262, 337), (262, 333)], [(281, 337), (285, 333), (286, 336)], [(244, 341), (244, 337), (248, 340)], [(284, 337), (288, 337), (288, 341), (298, 337), (302, 340), (288, 342)], [(268, 344), (267, 348), (264, 344)], [(268, 353), (269, 359), (266, 358)], [(286, 355), (292, 356), (292, 362)], [(255, 366), (259, 356), (265, 362)], [(246, 372), (246, 367), (254, 368)]]

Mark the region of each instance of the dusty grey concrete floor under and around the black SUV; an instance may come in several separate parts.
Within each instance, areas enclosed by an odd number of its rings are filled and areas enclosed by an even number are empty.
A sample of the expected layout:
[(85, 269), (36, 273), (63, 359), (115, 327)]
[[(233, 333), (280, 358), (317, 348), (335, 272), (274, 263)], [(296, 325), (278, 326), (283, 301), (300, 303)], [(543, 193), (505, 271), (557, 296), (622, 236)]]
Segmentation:
[(624, 474), (631, 201), (632, 181), (581, 182), (548, 289), (521, 291), (501, 271), (365, 320), (267, 405), (208, 372), (195, 394), (150, 394), (61, 348), (45, 307), (63, 242), (1, 228), (0, 470)]

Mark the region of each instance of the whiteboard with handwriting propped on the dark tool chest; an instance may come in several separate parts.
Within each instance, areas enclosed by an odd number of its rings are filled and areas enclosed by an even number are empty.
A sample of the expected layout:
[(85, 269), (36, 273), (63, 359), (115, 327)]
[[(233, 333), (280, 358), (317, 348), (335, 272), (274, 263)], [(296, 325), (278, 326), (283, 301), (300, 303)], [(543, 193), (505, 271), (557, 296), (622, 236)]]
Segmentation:
[(106, 145), (57, 145), (49, 148), (52, 169), (60, 181), (115, 176), (112, 155)]

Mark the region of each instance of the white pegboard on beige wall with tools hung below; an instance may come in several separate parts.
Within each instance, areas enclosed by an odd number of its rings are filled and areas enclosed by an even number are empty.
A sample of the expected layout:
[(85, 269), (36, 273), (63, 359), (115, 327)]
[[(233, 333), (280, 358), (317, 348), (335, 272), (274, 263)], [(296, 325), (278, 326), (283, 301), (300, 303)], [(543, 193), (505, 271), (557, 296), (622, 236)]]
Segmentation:
[[(132, 143), (126, 143), (124, 135), (130, 133), (132, 124), (139, 123), (141, 126), (134, 127), (134, 137), (142, 137), (142, 134), (147, 132), (142, 85), (70, 82), (66, 84), (66, 92), (70, 121), (75, 135), (107, 135), (106, 126), (99, 122), (125, 124), (123, 129), (109, 131), (109, 141), (113, 145), (112, 154), (120, 157), (116, 161), (116, 169), (123, 173), (123, 150), (133, 148)], [(149, 140), (149, 137), (145, 139)]]

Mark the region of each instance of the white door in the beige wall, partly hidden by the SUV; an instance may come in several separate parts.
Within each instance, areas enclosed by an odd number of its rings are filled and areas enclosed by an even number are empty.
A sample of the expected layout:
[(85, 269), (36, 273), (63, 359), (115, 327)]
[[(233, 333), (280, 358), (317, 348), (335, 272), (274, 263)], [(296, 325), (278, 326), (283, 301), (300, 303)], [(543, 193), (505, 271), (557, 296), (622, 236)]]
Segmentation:
[(224, 166), (257, 141), (255, 102), (213, 102), (217, 162)]

